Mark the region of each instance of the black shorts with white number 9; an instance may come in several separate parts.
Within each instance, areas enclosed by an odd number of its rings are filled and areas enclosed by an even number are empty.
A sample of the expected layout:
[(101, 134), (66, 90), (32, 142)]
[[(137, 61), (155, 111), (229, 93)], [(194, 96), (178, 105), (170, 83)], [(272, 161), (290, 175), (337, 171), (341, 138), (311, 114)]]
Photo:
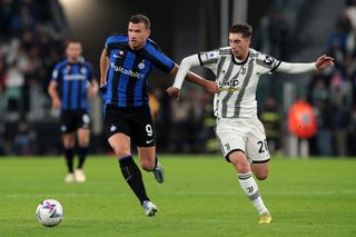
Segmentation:
[(156, 145), (154, 121), (148, 107), (106, 108), (105, 132), (109, 139), (115, 134), (125, 134), (138, 147)]

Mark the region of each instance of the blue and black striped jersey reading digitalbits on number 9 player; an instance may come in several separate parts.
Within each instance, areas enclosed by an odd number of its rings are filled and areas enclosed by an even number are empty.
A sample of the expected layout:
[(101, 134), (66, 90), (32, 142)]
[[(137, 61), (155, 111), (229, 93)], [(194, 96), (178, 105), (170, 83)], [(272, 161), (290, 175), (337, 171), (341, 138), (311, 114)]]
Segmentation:
[(147, 79), (152, 69), (169, 72), (175, 62), (150, 39), (142, 49), (132, 50), (129, 37), (110, 36), (106, 41), (109, 57), (105, 106), (148, 106)]

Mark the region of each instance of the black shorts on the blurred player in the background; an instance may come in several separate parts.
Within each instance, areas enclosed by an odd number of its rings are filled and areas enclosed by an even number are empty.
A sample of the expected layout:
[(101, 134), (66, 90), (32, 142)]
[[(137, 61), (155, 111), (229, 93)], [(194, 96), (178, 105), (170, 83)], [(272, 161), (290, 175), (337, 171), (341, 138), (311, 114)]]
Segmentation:
[(85, 110), (66, 110), (60, 115), (60, 131), (70, 134), (79, 128), (90, 128), (90, 117)]

